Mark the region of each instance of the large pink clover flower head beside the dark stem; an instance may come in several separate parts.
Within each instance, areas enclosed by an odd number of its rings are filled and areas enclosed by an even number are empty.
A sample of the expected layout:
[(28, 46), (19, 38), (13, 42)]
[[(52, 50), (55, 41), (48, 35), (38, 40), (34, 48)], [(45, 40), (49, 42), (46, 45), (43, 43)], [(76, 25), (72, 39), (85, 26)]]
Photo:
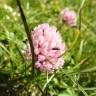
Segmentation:
[(41, 24), (32, 32), (35, 67), (49, 73), (62, 68), (64, 59), (61, 55), (65, 51), (65, 44), (55, 26)]

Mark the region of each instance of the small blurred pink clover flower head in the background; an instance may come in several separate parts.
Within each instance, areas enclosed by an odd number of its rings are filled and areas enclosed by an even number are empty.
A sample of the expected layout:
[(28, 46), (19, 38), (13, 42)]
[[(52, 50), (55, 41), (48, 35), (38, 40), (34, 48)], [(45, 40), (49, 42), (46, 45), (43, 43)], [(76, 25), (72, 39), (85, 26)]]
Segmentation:
[(75, 11), (65, 8), (60, 13), (61, 19), (66, 22), (69, 27), (76, 26), (77, 16)]

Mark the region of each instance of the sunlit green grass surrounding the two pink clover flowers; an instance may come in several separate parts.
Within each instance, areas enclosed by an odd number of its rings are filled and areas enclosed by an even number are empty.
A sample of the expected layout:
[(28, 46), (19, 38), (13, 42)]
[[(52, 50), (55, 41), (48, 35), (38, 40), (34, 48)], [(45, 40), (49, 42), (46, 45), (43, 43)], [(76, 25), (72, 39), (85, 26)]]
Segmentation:
[[(65, 65), (48, 84), (52, 96), (96, 96), (96, 0), (20, 0), (30, 30), (38, 24), (55, 25), (68, 50)], [(7, 7), (6, 7), (7, 6)], [(59, 13), (70, 7), (81, 16), (80, 32), (62, 25)], [(80, 13), (81, 11), (81, 13)], [(80, 14), (79, 14), (80, 13)], [(27, 35), (15, 0), (0, 0), (0, 95), (41, 95), (46, 74), (24, 60)], [(38, 85), (38, 86), (37, 86)]]

